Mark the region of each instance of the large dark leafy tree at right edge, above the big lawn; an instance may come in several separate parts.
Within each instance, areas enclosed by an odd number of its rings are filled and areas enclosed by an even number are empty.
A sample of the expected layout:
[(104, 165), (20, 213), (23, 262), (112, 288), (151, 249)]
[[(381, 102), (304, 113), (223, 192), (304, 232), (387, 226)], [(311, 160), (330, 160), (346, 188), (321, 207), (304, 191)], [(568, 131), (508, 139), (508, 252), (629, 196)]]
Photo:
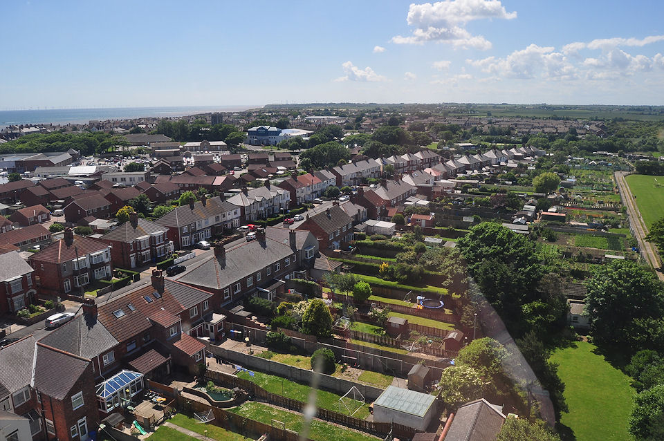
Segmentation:
[(664, 313), (663, 285), (652, 272), (636, 262), (613, 261), (594, 270), (586, 287), (596, 342), (627, 348), (661, 345), (656, 331)]

